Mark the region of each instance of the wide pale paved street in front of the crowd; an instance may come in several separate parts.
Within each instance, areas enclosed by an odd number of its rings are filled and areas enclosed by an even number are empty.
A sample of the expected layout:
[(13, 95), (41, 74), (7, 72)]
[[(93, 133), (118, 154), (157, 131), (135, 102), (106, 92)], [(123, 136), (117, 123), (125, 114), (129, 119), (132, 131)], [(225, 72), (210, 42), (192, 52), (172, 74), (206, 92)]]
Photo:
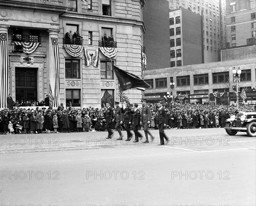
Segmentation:
[(157, 146), (151, 132), (149, 144), (117, 132), (1, 135), (0, 205), (256, 205), (255, 137), (166, 130)]

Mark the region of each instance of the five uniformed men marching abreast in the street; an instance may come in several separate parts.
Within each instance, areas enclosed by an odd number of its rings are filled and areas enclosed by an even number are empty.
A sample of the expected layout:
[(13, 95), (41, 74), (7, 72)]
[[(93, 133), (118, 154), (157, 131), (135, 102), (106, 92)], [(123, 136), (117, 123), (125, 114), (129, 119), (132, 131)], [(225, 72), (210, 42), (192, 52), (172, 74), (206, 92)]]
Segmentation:
[[(113, 137), (113, 131), (111, 130), (111, 122), (116, 121), (115, 129), (119, 133), (119, 138), (117, 140), (122, 140), (123, 135), (121, 133), (121, 124), (125, 123), (125, 130), (127, 132), (127, 139), (125, 141), (130, 141), (132, 138), (131, 133), (131, 125), (134, 131), (135, 140), (133, 142), (138, 142), (139, 137), (142, 137), (142, 134), (138, 131), (140, 125), (143, 126), (143, 130), (145, 133), (145, 141), (143, 143), (149, 143), (148, 135), (151, 136), (151, 140), (154, 140), (154, 136), (149, 132), (148, 126), (151, 122), (151, 109), (146, 104), (146, 99), (141, 99), (142, 102), (142, 112), (138, 108), (138, 104), (134, 104), (132, 108), (131, 104), (126, 104), (126, 108), (123, 110), (119, 107), (119, 102), (115, 102), (115, 113), (113, 113), (113, 108), (111, 107), (110, 103), (106, 103), (107, 110), (105, 111), (105, 121), (106, 126), (105, 128), (108, 130), (108, 138)], [(164, 139), (166, 139), (166, 144), (169, 142), (166, 134), (164, 133), (165, 127), (168, 125), (168, 115), (166, 108), (163, 107), (163, 102), (158, 102), (158, 121), (157, 127), (159, 127), (159, 135), (160, 135), (160, 144), (164, 145)]]

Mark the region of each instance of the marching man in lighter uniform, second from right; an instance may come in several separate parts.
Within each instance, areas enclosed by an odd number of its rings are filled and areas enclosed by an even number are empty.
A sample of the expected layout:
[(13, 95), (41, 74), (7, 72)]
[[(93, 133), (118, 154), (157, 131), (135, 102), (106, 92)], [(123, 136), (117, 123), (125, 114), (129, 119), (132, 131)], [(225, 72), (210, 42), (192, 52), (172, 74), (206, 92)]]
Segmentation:
[(149, 142), (148, 141), (148, 134), (151, 136), (152, 141), (154, 139), (154, 137), (148, 131), (148, 125), (151, 122), (151, 110), (148, 107), (148, 105), (146, 104), (146, 102), (147, 102), (146, 99), (141, 99), (140, 102), (142, 102), (142, 116), (141, 116), (140, 124), (143, 125), (145, 138), (146, 138), (146, 140), (143, 141), (143, 143), (148, 143)]

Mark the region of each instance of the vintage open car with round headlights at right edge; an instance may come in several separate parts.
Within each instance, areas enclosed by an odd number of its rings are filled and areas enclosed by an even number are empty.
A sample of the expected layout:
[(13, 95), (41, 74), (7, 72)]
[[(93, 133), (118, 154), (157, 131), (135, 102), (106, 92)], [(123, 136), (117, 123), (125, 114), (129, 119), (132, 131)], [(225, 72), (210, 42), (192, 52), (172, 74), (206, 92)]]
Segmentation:
[(256, 136), (256, 111), (239, 112), (225, 121), (227, 134), (236, 135), (237, 132), (246, 132), (251, 137)]

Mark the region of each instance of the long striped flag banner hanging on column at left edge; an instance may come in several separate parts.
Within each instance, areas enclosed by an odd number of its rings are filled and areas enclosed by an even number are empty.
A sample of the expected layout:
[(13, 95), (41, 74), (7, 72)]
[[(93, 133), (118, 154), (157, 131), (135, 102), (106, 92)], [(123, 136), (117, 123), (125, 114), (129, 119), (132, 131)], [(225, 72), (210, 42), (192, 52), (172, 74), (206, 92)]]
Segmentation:
[(8, 43), (7, 34), (0, 33), (0, 45), (1, 45), (1, 59), (2, 59), (2, 71), (0, 73), (0, 108), (7, 107), (8, 96)]

